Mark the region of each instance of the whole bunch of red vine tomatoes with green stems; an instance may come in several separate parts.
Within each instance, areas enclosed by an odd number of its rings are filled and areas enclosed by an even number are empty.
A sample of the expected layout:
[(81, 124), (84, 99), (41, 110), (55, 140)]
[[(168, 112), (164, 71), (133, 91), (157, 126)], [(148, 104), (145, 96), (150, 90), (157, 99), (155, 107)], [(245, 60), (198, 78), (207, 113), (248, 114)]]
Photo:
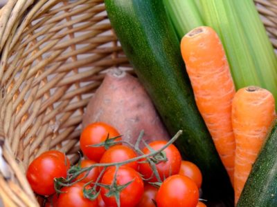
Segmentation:
[(34, 159), (27, 179), (35, 193), (47, 197), (46, 206), (205, 206), (199, 201), (199, 168), (182, 161), (173, 144), (152, 141), (141, 150), (122, 143), (112, 126), (90, 124), (80, 136), (86, 158), (74, 166), (82, 171), (70, 184), (57, 190), (57, 179), (68, 179), (72, 170), (69, 159), (56, 150)]

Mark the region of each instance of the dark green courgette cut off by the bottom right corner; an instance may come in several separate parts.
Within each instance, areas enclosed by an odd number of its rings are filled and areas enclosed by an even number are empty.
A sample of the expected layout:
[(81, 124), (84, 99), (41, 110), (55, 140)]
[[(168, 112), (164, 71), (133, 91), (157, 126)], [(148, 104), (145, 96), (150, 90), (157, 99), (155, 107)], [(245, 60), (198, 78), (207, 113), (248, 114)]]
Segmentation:
[(253, 164), (237, 207), (277, 206), (277, 122)]

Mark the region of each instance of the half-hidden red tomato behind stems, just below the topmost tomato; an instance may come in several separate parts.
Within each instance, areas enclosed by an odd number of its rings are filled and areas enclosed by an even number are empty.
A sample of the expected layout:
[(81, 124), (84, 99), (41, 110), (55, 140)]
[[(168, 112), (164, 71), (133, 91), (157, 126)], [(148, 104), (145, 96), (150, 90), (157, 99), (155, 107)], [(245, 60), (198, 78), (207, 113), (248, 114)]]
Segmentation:
[[(92, 166), (93, 164), (96, 164), (95, 161), (92, 161), (92, 160), (89, 160), (89, 159), (83, 159), (81, 161), (81, 168), (87, 168), (87, 167), (90, 167)], [(82, 182), (83, 183), (87, 183), (89, 181), (93, 181), (95, 182), (96, 179), (98, 178), (98, 175), (99, 175), (99, 168), (96, 167), (96, 168), (92, 168), (91, 170), (89, 170), (89, 174), (87, 175), (87, 177), (85, 177), (84, 179), (82, 179)], [(78, 175), (78, 177), (76, 178), (77, 179), (81, 179), (82, 177), (84, 177), (85, 175), (87, 174), (87, 171), (86, 172), (82, 172), (82, 174)]]

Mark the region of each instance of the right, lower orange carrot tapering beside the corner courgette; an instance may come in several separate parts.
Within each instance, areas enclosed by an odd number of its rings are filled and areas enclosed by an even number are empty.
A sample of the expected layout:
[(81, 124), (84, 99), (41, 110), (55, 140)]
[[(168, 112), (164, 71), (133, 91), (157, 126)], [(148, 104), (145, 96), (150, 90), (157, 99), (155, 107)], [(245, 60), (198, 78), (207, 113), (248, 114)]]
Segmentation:
[(274, 97), (257, 86), (241, 88), (232, 103), (235, 135), (235, 203), (244, 187), (267, 132), (276, 117)]

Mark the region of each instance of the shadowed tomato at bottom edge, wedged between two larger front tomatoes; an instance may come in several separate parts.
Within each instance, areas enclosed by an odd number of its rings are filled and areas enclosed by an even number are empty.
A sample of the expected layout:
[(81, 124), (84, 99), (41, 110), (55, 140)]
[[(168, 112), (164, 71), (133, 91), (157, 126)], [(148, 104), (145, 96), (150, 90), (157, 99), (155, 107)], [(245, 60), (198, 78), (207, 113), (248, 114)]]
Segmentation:
[(145, 184), (143, 197), (136, 207), (156, 207), (154, 201), (156, 201), (157, 193), (157, 187), (151, 186), (150, 184)]

